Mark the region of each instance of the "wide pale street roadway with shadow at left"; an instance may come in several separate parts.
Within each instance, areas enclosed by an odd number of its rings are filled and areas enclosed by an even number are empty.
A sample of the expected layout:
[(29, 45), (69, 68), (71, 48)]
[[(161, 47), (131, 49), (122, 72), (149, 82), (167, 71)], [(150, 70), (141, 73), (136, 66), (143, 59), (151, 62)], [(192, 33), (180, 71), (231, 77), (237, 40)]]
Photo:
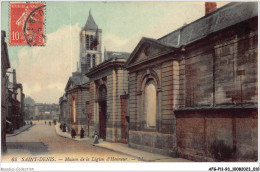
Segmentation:
[(86, 141), (58, 136), (54, 125), (33, 121), (26, 131), (7, 137), (7, 154), (2, 162), (137, 162), (117, 152), (99, 148)]

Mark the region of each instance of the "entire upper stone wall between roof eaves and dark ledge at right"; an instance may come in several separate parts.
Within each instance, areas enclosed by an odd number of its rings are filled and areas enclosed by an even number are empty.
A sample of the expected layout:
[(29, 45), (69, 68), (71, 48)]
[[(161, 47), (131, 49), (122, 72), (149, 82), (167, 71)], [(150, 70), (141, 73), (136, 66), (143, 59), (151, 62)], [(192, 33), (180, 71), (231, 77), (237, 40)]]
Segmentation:
[(257, 103), (258, 39), (250, 22), (187, 46), (186, 107)]

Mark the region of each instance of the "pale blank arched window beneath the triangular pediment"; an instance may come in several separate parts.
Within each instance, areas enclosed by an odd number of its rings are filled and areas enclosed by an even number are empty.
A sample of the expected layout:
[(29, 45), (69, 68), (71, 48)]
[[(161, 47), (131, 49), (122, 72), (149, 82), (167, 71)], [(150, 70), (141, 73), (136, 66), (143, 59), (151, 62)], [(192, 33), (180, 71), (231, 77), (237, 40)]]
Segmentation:
[(154, 128), (156, 127), (157, 93), (153, 80), (146, 83), (144, 94), (144, 116), (146, 118), (146, 127)]

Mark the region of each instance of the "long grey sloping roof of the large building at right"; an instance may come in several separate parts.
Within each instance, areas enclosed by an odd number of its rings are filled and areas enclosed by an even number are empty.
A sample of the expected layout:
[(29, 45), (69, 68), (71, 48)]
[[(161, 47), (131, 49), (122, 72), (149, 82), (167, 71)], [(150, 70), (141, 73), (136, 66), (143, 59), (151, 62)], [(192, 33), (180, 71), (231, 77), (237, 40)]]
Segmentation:
[(158, 41), (168, 46), (180, 47), (256, 16), (257, 2), (232, 2), (163, 36)]

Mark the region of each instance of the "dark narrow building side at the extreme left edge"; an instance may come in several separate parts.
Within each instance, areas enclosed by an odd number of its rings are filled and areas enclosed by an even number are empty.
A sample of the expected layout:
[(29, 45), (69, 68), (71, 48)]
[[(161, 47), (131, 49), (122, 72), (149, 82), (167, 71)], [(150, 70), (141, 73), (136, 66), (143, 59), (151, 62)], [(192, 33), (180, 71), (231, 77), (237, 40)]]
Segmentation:
[(6, 112), (7, 106), (7, 77), (6, 71), (10, 68), (7, 44), (5, 42), (6, 33), (1, 31), (1, 152), (7, 151), (6, 148)]

